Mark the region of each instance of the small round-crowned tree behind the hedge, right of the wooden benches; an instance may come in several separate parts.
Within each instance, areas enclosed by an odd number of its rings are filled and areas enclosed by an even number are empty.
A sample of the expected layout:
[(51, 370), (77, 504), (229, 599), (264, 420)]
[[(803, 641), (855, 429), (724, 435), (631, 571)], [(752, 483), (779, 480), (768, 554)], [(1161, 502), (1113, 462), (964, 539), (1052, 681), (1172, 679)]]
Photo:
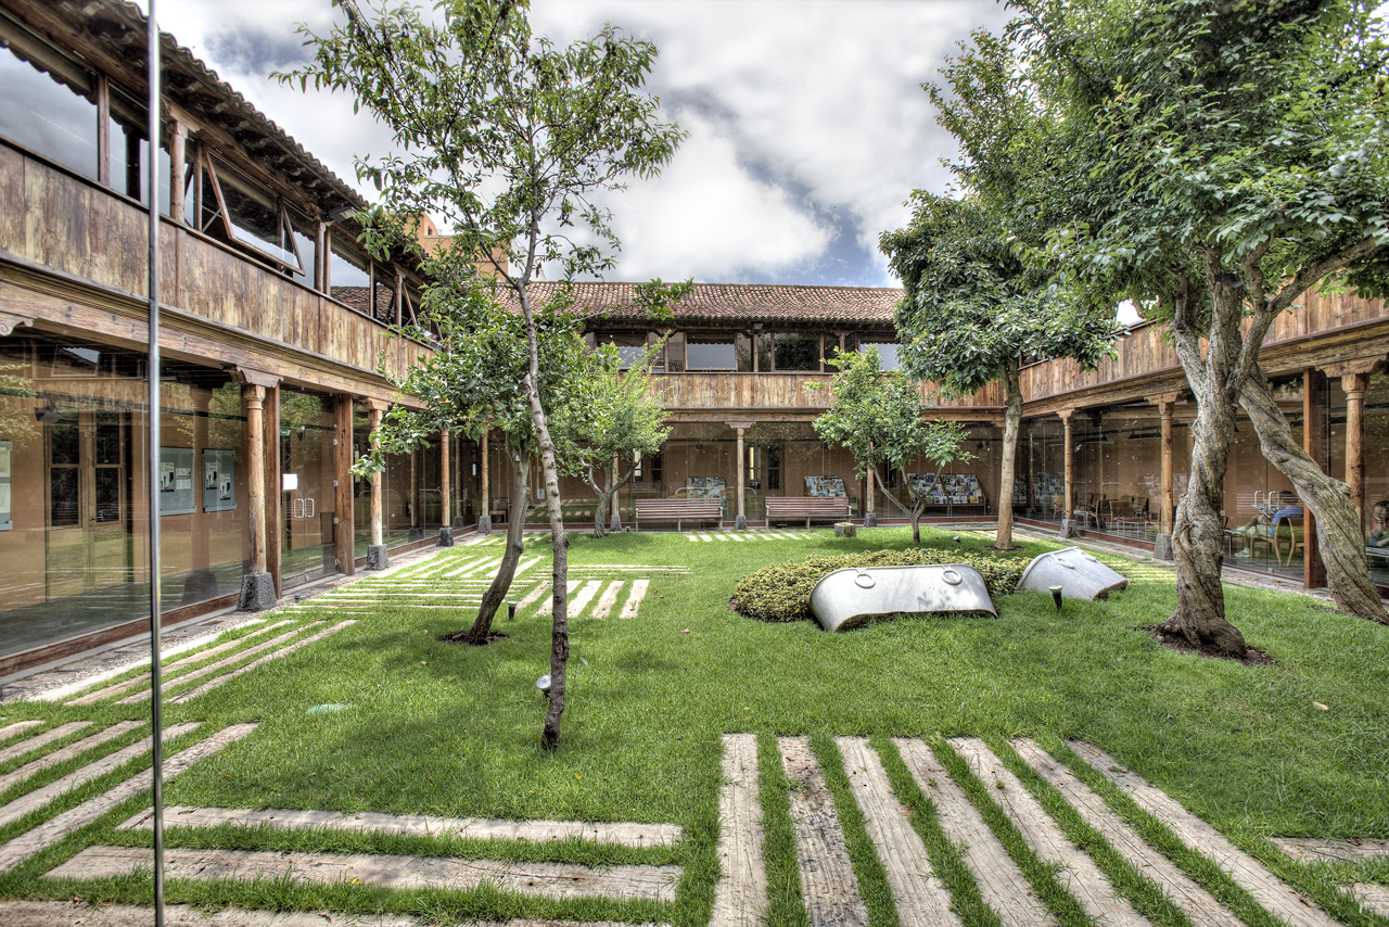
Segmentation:
[(921, 543), (921, 513), (926, 500), (907, 477), (907, 467), (925, 457), (935, 464), (939, 478), (947, 463), (970, 460), (963, 448), (964, 427), (956, 421), (925, 421), (926, 403), (917, 385), (901, 371), (885, 372), (876, 347), (840, 350), (826, 363), (839, 372), (829, 384), (829, 407), (813, 423), (815, 434), (822, 441), (847, 448), (860, 478), (872, 470), (878, 485), (888, 486), (885, 477), (889, 473), (896, 470), (901, 474), (910, 504), (892, 493), (886, 495), (911, 518), (913, 543)]

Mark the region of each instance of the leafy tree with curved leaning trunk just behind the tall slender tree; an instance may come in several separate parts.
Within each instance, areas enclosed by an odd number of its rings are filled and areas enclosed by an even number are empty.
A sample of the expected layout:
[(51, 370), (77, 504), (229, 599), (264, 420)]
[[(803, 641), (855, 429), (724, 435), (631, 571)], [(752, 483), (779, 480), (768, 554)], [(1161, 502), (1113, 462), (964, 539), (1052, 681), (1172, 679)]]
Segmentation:
[[(499, 431), (506, 436), (506, 454), (511, 460), (511, 509), (501, 564), (482, 596), (472, 625), (449, 638), (458, 643), (483, 645), (515, 578), (524, 552), (522, 530), (532, 509), (528, 484), (536, 436), (525, 400), (528, 357), (521, 318), (501, 309), (482, 288), (458, 290), (438, 282), (425, 290), (419, 324), (399, 331), (435, 345), (431, 356), (403, 377), (392, 378), (396, 389), (419, 399), (422, 404), (419, 409), (392, 406), (376, 431), (376, 450), (358, 460), (353, 471), (368, 477), (383, 470), (389, 454), (428, 446), (440, 431), (471, 438)], [(572, 421), (588, 402), (585, 388), (593, 375), (593, 357), (583, 350), (574, 320), (563, 315), (542, 320), (538, 343), (547, 416), (556, 423)], [(561, 442), (558, 446), (561, 460), (574, 459), (569, 445)]]

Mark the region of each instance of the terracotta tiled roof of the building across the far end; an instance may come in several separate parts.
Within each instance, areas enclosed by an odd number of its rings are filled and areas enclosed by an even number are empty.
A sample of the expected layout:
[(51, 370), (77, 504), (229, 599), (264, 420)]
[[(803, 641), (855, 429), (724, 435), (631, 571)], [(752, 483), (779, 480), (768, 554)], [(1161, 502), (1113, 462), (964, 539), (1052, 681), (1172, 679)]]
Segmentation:
[[(554, 292), (553, 282), (533, 282), (536, 302)], [(640, 320), (646, 311), (635, 304), (636, 284), (574, 284), (575, 313), (585, 318)], [(674, 309), (686, 322), (764, 324), (856, 322), (892, 325), (893, 307), (903, 290), (890, 286), (801, 286), (797, 284), (696, 284), (694, 290)]]

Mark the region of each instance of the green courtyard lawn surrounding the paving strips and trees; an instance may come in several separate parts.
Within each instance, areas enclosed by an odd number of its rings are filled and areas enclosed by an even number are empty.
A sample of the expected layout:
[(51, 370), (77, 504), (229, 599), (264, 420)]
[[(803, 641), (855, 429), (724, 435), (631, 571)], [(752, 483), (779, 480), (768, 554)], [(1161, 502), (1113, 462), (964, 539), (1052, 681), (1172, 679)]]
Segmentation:
[[(1389, 862), (1303, 866), (1290, 863), (1265, 838), (1389, 837), (1389, 628), (1333, 614), (1307, 596), (1226, 586), (1231, 618), (1250, 645), (1275, 663), (1242, 666), (1178, 655), (1140, 630), (1163, 621), (1175, 607), (1172, 573), (1117, 559), (1106, 560), (1131, 577), (1128, 591), (1108, 602), (1067, 602), (1060, 613), (1049, 596), (1018, 593), (997, 599), (997, 620), (915, 617), (831, 635), (808, 621), (767, 624), (731, 612), (733, 584), (763, 566), (910, 546), (910, 528), (861, 531), (856, 539), (836, 539), (826, 530), (799, 534), (813, 538), (692, 542), (681, 534), (571, 535), (569, 561), (585, 582), (601, 578), (606, 586), (610, 574), (603, 568), (608, 566), (651, 568), (640, 573), (650, 585), (635, 618), (619, 618), (613, 609), (607, 618), (571, 623), (568, 707), (563, 744), (554, 753), (539, 749), (544, 699), (535, 688), (536, 678), (549, 671), (549, 598), (524, 609), (515, 621), (508, 623), (503, 613), (496, 630), (508, 635), (504, 641), (486, 648), (446, 645), (438, 638), (465, 627), (472, 617), (468, 609), (447, 607), (447, 593), (457, 589), (447, 577), (414, 586), (408, 596), (386, 591), (390, 577), (364, 580), (358, 585), (375, 586), (386, 603), (363, 614), (349, 614), (347, 606), (333, 606), (328, 598), (321, 603), (310, 599), (294, 607), (296, 618), (332, 624), (354, 617), (357, 623), (165, 710), (168, 725), (203, 721), (199, 734), (185, 735), (167, 753), (228, 724), (260, 723), (244, 741), (169, 782), (168, 805), (646, 821), (686, 830), (674, 848), (639, 849), (576, 839), (538, 845), (369, 832), (181, 830), (172, 816), (167, 821), (169, 846), (678, 864), (683, 874), (672, 903), (557, 902), (486, 887), (469, 892), (388, 891), (288, 880), (175, 880), (168, 899), (204, 906), (399, 912), (444, 920), (524, 914), (703, 924), (720, 871), (721, 737), (747, 731), (757, 734), (761, 756), (768, 921), (774, 927), (806, 923), (788, 810), (790, 787), (775, 741), (803, 734), (810, 735), (835, 795), (874, 924), (895, 924), (897, 916), (850, 796), (849, 777), (836, 759), (835, 737), (871, 738), (967, 927), (996, 927), (997, 917), (979, 899), (958, 848), (940, 831), (892, 737), (926, 738), (985, 809), (1038, 898), (1064, 927), (1090, 920), (1007, 819), (988, 810), (985, 784), (968, 774), (946, 738), (988, 741), (1054, 812), (1072, 841), (1097, 848), (1093, 855), (1100, 869), (1154, 924), (1190, 927), (1182, 912), (1107, 849), (1104, 839), (1022, 764), (1008, 738), (1038, 741), (1253, 927), (1275, 921), (1218, 867), (1171, 838), (1076, 757), (1065, 745), (1068, 739), (1093, 744), (1140, 773), (1336, 919), (1383, 923), (1360, 913), (1336, 887), (1389, 881)], [(928, 545), (972, 552), (989, 545), (968, 532), (956, 543), (953, 534), (922, 530)], [(1032, 543), (1018, 556), (1054, 546)], [(439, 556), (463, 564), (486, 550), (500, 553), (496, 546), (467, 546)], [(533, 557), (540, 561), (518, 580), (518, 591), (549, 575), (547, 539), (528, 538), (524, 561)], [(681, 567), (689, 571), (679, 573)], [(431, 598), (421, 588), (444, 595)], [(310, 712), (324, 705), (342, 707)], [(26, 703), (3, 706), (0, 714), (3, 723), (36, 717), (106, 725), (147, 719), (147, 706)], [(129, 739), (146, 732), (132, 731)], [(14, 764), (0, 763), (0, 774)], [(58, 764), (44, 776), (56, 780), (76, 766)], [(94, 780), (42, 813), (0, 826), (0, 844), (53, 810), (110, 788), (135, 769)], [(10, 798), (0, 794), (0, 802)], [(93, 883), (43, 877), (86, 846), (147, 844), (147, 832), (117, 830), (147, 805), (147, 792), (126, 801), (94, 826), (0, 876), (0, 896), (147, 902), (146, 878)]]

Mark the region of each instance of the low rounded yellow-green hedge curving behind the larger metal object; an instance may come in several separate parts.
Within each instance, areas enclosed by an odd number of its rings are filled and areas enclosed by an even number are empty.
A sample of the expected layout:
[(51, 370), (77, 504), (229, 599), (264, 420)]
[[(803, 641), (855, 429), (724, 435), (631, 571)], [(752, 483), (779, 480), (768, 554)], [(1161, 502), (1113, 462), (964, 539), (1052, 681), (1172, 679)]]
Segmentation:
[(813, 617), (810, 592), (815, 584), (849, 567), (913, 567), (926, 563), (965, 563), (983, 577), (989, 595), (1007, 595), (1018, 585), (1028, 560), (1003, 555), (964, 553), (917, 548), (911, 550), (868, 550), (838, 557), (807, 557), (778, 563), (750, 573), (733, 586), (733, 609), (758, 621), (800, 621)]

